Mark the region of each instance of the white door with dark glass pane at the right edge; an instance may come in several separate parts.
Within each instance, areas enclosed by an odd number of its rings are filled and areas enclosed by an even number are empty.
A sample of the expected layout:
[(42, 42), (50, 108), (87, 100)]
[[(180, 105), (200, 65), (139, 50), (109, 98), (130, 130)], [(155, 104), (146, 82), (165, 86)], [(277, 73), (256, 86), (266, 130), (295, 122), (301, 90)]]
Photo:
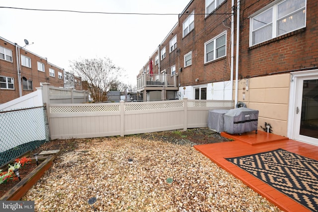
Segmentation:
[(300, 76), (296, 81), (295, 140), (318, 145), (318, 76)]

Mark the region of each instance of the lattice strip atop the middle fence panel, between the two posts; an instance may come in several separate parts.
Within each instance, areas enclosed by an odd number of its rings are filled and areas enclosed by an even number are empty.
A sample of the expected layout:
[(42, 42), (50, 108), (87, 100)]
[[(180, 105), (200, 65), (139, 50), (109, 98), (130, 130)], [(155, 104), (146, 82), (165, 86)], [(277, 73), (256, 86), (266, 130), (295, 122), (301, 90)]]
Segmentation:
[(163, 108), (182, 108), (183, 101), (177, 102), (160, 102), (151, 104), (128, 104), (125, 105), (125, 111), (139, 111), (139, 110), (156, 110)]

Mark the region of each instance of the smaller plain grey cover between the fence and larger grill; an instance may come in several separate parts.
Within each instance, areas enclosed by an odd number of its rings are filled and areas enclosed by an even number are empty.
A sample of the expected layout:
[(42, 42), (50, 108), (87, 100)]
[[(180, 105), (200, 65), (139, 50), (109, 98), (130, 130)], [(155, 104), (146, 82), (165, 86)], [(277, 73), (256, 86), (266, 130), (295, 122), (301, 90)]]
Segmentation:
[(208, 128), (218, 133), (224, 131), (224, 114), (229, 110), (209, 110)]

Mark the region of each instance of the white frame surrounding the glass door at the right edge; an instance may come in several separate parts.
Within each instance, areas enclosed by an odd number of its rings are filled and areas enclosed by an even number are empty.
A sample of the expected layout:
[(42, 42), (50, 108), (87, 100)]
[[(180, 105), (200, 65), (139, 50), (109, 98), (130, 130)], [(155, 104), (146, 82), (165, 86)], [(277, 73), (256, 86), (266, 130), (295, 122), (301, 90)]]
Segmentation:
[[(313, 143), (311, 141), (304, 141), (296, 139), (298, 136), (298, 132), (296, 129), (299, 129), (297, 124), (297, 117), (296, 117), (296, 109), (297, 109), (297, 100), (302, 96), (302, 92), (299, 92), (298, 86), (299, 82), (306, 77), (316, 76), (318, 77), (318, 69), (317, 70), (310, 70), (310, 71), (297, 71), (290, 73), (290, 90), (289, 90), (289, 107), (288, 107), (288, 130), (287, 136), (289, 139), (298, 140), (306, 143), (311, 143), (318, 145), (318, 143)], [(301, 108), (301, 105), (298, 106)], [(304, 139), (308, 137), (304, 136)], [(313, 139), (316, 140), (316, 139)]]

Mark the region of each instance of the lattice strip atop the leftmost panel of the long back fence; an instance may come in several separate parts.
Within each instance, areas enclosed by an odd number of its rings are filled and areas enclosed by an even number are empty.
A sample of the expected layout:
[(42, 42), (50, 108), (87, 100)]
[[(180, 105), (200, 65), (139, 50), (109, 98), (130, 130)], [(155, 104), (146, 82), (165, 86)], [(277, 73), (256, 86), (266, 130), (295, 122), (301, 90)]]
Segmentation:
[(51, 106), (50, 113), (87, 113), (102, 111), (120, 111), (119, 105), (78, 105), (78, 106)]

